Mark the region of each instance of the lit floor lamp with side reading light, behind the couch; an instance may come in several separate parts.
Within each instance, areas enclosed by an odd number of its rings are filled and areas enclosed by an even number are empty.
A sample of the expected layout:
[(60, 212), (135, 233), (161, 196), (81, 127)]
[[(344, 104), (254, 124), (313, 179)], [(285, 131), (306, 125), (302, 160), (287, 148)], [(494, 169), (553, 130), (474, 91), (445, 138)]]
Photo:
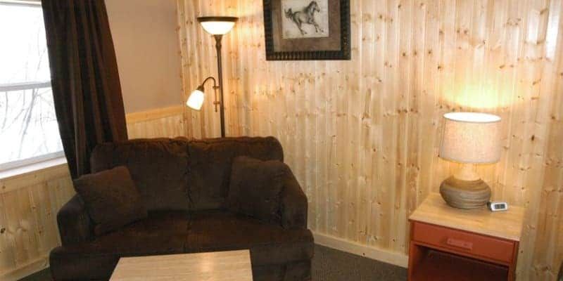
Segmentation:
[[(215, 48), (217, 49), (217, 77), (219, 85), (217, 85), (217, 81), (213, 77), (207, 77), (201, 83), (198, 88), (191, 92), (189, 95), (188, 100), (186, 101), (186, 105), (193, 110), (201, 110), (201, 106), (203, 105), (203, 100), (205, 99), (205, 82), (212, 80), (213, 81), (213, 89), (215, 90), (215, 101), (213, 104), (215, 105), (215, 112), (217, 112), (217, 106), (219, 107), (219, 112), (221, 116), (221, 137), (224, 138), (224, 98), (223, 98), (223, 72), (222, 72), (222, 59), (221, 59), (221, 39), (224, 34), (229, 33), (234, 27), (234, 22), (236, 22), (238, 18), (234, 17), (199, 17), (198, 22), (203, 27), (203, 30), (212, 34), (215, 37)], [(217, 89), (219, 90), (219, 100), (217, 101)]]

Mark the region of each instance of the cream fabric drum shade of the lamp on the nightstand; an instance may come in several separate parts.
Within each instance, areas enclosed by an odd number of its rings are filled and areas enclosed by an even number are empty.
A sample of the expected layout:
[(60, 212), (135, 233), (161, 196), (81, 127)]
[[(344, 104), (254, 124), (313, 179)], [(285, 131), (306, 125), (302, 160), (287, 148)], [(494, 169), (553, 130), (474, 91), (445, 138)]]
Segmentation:
[(440, 157), (453, 162), (489, 164), (500, 159), (500, 117), (476, 112), (450, 112), (445, 124)]

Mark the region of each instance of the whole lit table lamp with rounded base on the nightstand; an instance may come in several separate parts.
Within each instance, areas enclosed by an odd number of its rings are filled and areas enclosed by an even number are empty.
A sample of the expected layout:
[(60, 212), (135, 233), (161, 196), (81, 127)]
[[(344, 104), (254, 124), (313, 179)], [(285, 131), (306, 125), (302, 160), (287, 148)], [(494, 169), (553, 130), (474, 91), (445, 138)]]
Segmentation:
[(462, 164), (440, 185), (440, 194), (451, 207), (475, 209), (491, 199), (491, 188), (476, 173), (476, 164), (500, 159), (500, 117), (476, 112), (450, 112), (444, 116), (440, 157)]

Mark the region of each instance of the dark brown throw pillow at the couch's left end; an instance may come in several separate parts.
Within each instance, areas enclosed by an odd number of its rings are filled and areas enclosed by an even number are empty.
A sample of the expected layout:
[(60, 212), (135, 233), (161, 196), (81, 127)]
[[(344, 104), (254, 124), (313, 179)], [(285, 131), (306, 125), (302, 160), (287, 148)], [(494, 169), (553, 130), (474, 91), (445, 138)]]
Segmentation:
[(125, 166), (81, 176), (74, 185), (94, 221), (96, 235), (117, 230), (147, 216), (139, 191)]

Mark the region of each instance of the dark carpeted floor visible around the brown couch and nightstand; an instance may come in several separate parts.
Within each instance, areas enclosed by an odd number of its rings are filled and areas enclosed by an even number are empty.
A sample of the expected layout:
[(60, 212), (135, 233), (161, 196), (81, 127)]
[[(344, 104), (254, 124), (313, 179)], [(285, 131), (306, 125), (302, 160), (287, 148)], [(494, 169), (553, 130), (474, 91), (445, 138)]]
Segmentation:
[[(39, 271), (21, 281), (49, 281), (49, 269)], [(363, 256), (315, 246), (312, 259), (312, 281), (403, 281), (407, 270)]]

